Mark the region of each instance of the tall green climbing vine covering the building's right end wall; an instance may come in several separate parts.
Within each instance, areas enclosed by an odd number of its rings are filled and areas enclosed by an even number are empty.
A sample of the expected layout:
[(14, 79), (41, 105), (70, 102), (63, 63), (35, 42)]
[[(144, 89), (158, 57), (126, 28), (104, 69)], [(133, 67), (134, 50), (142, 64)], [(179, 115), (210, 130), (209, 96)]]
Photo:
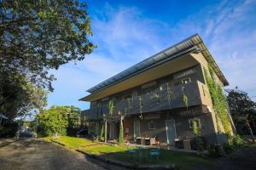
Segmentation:
[(212, 65), (208, 65), (208, 70), (209, 71), (207, 71), (207, 69), (204, 68), (207, 86), (209, 88), (212, 99), (213, 109), (223, 124), (224, 132), (231, 134), (232, 129), (224, 91), (221, 85), (218, 84), (218, 82), (216, 82), (215, 80)]

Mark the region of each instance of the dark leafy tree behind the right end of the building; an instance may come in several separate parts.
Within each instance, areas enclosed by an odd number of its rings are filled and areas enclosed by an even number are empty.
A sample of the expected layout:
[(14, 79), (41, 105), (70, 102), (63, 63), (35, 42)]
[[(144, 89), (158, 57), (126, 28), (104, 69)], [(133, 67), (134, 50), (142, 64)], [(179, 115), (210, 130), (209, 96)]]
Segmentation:
[(242, 133), (241, 129), (247, 127), (253, 139), (253, 130), (250, 124), (255, 126), (255, 102), (248, 97), (247, 93), (241, 92), (237, 88), (229, 91), (227, 101), (238, 133)]

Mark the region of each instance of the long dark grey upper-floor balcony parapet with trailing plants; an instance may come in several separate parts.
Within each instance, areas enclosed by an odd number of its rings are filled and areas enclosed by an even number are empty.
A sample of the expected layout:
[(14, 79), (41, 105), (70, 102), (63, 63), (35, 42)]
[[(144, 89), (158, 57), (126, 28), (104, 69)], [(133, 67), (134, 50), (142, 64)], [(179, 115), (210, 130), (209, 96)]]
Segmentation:
[[(201, 82), (189, 82), (172, 86), (171, 88), (163, 86), (162, 89), (157, 88), (150, 93), (138, 94), (128, 99), (116, 99), (114, 101), (113, 115), (121, 112), (124, 115), (132, 115), (138, 113), (163, 111), (169, 109), (182, 108), (186, 106), (201, 105), (201, 90), (199, 89)], [(185, 95), (188, 99), (187, 104), (184, 101)], [(97, 105), (97, 107), (88, 111), (90, 119), (101, 118), (103, 114), (108, 114), (108, 102)]]

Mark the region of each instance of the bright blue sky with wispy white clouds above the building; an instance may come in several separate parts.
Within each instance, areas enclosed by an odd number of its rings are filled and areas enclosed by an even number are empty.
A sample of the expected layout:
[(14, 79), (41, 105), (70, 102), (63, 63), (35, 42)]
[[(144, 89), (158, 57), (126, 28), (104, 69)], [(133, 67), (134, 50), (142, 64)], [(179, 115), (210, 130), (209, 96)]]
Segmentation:
[(199, 33), (230, 82), (256, 100), (256, 0), (87, 0), (97, 48), (83, 61), (61, 65), (50, 105), (79, 101), (87, 89), (131, 65)]

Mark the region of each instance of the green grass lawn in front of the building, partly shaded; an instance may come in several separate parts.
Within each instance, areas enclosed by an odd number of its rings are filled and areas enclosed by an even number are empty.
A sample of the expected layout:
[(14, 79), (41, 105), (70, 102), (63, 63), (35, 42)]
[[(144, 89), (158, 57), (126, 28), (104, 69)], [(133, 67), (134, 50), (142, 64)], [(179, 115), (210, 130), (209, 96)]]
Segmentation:
[[(46, 138), (49, 140), (49, 138)], [(138, 154), (131, 155), (127, 151), (125, 144), (98, 144), (89, 139), (79, 139), (74, 137), (61, 136), (58, 141), (62, 144), (67, 144), (69, 147), (84, 150), (90, 154), (104, 156), (119, 161), (127, 161), (130, 163), (139, 162)], [(191, 169), (192, 167), (211, 167), (214, 159), (209, 157), (197, 156), (195, 153), (186, 153), (175, 150), (160, 150), (160, 157), (150, 158), (149, 149), (143, 151), (146, 157), (143, 157), (141, 163), (174, 163), (181, 169)]]

